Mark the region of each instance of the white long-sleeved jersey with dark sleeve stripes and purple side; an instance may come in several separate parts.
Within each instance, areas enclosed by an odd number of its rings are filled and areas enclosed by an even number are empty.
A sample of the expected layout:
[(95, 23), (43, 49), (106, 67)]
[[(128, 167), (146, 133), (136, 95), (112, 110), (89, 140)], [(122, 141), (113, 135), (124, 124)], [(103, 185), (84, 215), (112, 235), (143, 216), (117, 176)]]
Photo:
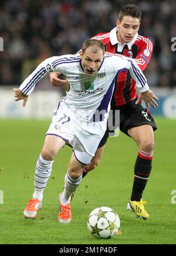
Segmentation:
[(47, 72), (60, 72), (65, 75), (70, 86), (65, 104), (76, 119), (90, 122), (97, 110), (106, 113), (103, 119), (108, 117), (115, 78), (117, 73), (123, 72), (124, 69), (130, 71), (130, 75), (136, 81), (141, 92), (149, 89), (143, 72), (133, 59), (104, 55), (97, 73), (88, 76), (84, 73), (79, 54), (46, 59), (25, 79), (20, 89), (22, 93), (29, 95)]

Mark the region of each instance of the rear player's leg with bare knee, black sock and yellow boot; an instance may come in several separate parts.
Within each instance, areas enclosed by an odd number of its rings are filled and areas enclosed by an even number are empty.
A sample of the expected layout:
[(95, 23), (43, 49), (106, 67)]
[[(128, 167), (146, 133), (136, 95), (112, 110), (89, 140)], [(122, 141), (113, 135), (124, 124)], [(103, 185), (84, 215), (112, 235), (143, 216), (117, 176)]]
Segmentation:
[(128, 130), (128, 134), (135, 140), (139, 147), (138, 156), (134, 166), (133, 190), (129, 204), (131, 204), (132, 208), (136, 208), (137, 206), (139, 211), (138, 216), (147, 219), (149, 216), (147, 211), (145, 211), (144, 202), (141, 201), (141, 198), (152, 168), (154, 150), (153, 127), (148, 124), (134, 127)]

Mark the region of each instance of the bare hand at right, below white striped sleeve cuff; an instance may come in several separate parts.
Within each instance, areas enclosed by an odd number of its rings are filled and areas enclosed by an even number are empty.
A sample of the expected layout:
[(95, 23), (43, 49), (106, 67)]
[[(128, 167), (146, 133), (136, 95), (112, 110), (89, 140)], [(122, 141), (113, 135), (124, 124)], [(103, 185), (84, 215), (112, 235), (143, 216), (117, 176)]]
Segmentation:
[(136, 101), (136, 104), (140, 103), (142, 99), (144, 100), (147, 108), (149, 108), (149, 103), (152, 107), (158, 106), (158, 104), (157, 104), (157, 102), (155, 102), (155, 100), (159, 100), (159, 99), (157, 96), (154, 95), (154, 93), (150, 89), (147, 90), (147, 92), (140, 93), (140, 95), (138, 96), (138, 99)]

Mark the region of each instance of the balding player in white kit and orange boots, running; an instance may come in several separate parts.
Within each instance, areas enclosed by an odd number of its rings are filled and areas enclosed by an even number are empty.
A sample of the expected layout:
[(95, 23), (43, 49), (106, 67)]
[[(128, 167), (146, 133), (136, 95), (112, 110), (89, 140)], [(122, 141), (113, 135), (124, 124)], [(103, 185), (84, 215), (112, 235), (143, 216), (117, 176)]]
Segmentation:
[[(14, 89), (15, 101), (28, 95), (47, 72), (60, 72), (69, 82), (70, 90), (57, 104), (52, 123), (46, 133), (42, 152), (36, 163), (35, 191), (23, 214), (35, 218), (42, 207), (43, 190), (52, 171), (55, 156), (66, 144), (72, 146), (73, 154), (65, 176), (65, 188), (60, 194), (60, 210), (57, 220), (69, 223), (72, 218), (70, 198), (82, 180), (84, 166), (90, 163), (107, 125), (110, 101), (117, 72), (130, 71), (140, 92), (149, 89), (147, 80), (136, 63), (123, 56), (104, 55), (100, 41), (87, 40), (77, 55), (48, 58)], [(154, 101), (155, 96), (148, 96)]]

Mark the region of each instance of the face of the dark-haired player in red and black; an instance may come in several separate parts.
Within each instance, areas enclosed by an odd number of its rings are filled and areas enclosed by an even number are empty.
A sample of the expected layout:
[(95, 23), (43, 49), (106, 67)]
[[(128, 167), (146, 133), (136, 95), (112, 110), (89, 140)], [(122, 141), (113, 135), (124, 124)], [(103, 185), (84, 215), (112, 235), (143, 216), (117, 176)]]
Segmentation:
[(119, 42), (130, 43), (140, 28), (140, 20), (131, 16), (123, 16), (121, 22), (117, 19), (116, 25)]

